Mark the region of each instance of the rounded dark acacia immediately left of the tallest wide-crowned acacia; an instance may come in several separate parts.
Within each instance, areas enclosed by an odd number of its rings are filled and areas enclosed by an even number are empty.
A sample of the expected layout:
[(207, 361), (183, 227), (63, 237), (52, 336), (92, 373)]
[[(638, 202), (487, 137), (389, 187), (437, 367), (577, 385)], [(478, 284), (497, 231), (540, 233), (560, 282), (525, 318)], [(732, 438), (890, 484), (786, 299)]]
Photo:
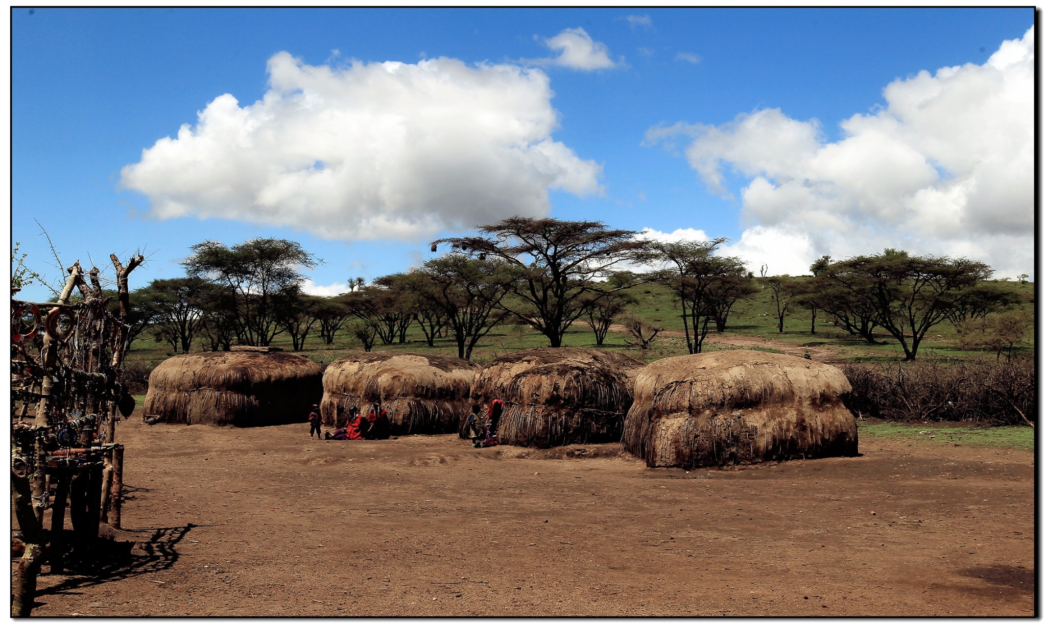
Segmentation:
[(449, 253), (425, 262), (411, 275), (418, 298), (447, 319), (461, 360), (470, 360), (476, 343), (509, 314), (501, 302), (515, 275), (504, 260)]

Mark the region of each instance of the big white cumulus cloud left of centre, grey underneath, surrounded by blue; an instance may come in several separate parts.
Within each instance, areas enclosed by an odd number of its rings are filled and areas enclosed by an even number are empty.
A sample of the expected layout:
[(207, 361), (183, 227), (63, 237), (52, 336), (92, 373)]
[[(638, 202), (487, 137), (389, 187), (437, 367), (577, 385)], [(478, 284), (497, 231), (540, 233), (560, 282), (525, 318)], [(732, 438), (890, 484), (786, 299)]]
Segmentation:
[(159, 218), (290, 226), (332, 239), (417, 240), (513, 214), (548, 190), (601, 192), (601, 167), (552, 139), (548, 76), (455, 59), (310, 66), (279, 52), (252, 105), (215, 97), (123, 167)]

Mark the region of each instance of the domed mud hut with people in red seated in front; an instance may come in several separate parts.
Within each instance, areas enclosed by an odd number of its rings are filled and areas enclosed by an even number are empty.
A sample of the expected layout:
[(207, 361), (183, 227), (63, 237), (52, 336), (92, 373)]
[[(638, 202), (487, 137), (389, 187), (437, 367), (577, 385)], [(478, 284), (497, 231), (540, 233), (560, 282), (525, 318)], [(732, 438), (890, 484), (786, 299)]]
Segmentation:
[(323, 422), (341, 426), (353, 407), (380, 402), (392, 434), (450, 434), (469, 414), (469, 389), (479, 367), (458, 357), (402, 351), (359, 352), (323, 373)]

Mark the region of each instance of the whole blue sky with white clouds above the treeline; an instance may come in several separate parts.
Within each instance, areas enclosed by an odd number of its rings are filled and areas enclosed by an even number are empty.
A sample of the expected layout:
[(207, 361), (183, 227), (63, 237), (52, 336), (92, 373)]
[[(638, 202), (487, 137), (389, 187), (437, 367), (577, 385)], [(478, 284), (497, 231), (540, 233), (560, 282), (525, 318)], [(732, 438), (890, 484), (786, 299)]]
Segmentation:
[(52, 281), (33, 219), (66, 264), (142, 249), (132, 287), (181, 275), (204, 239), (276, 236), (324, 260), (309, 287), (329, 294), (517, 212), (726, 236), (772, 274), (887, 246), (1033, 274), (1032, 24), (1030, 8), (13, 9), (12, 238)]

